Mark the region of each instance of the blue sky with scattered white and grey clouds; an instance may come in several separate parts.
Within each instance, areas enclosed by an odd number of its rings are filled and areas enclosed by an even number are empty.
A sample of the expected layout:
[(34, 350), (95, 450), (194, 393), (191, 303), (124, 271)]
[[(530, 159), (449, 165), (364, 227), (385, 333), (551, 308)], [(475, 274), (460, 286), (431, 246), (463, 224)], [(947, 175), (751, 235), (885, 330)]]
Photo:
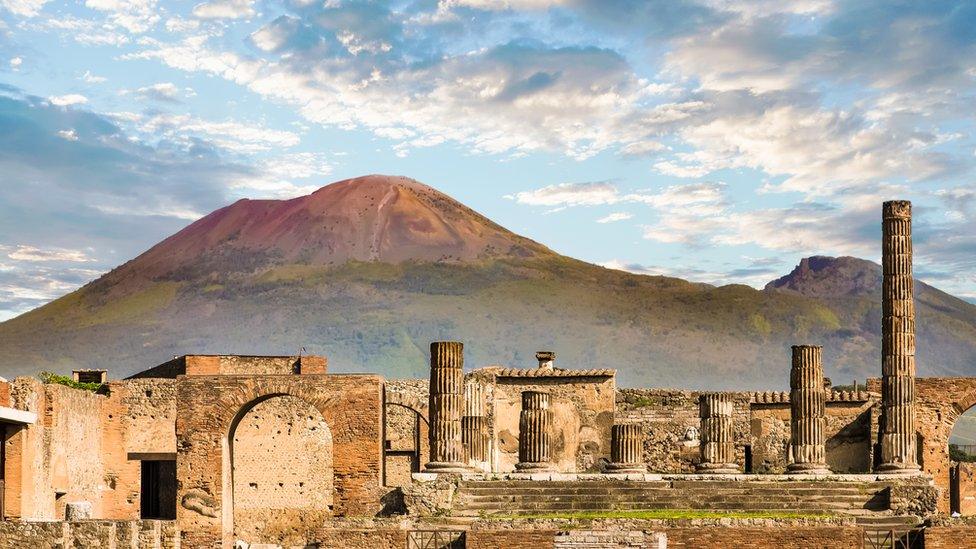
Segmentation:
[(880, 258), (976, 302), (976, 4), (0, 0), (0, 320), (242, 197), (385, 173), (612, 268)]

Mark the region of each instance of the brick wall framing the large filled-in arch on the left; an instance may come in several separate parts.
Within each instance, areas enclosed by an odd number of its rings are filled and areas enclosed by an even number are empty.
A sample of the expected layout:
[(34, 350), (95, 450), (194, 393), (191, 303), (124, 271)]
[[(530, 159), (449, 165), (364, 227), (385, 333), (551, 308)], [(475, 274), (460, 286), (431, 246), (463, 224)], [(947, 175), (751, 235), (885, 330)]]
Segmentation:
[[(373, 515), (383, 475), (383, 381), (374, 375), (187, 376), (177, 384), (177, 521), (193, 546), (233, 542), (228, 433), (270, 396), (291, 395), (332, 432), (336, 515)], [(269, 463), (268, 468), (277, 463)], [(297, 530), (301, 534), (304, 530)]]

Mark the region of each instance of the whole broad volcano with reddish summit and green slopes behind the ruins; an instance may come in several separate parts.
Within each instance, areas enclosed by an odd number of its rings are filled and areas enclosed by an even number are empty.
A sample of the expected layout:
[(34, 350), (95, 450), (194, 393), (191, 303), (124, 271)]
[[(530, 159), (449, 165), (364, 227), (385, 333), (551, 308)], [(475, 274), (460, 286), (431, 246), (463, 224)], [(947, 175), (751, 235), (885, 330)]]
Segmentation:
[[(763, 290), (605, 269), (518, 236), (402, 177), (340, 181), (217, 210), (79, 290), (0, 324), (0, 375), (173, 355), (329, 357), (426, 375), (432, 340), (468, 367), (611, 367), (621, 385), (771, 388), (789, 346), (825, 346), (836, 383), (880, 374), (880, 267), (814, 257)], [(976, 306), (918, 285), (919, 372), (976, 374)]]

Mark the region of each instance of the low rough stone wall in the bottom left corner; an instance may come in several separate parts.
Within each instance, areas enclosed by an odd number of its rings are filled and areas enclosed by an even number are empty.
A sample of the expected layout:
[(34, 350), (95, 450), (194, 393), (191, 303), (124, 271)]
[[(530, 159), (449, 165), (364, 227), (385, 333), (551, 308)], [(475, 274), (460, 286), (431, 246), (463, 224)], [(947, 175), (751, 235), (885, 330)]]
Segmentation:
[(0, 522), (0, 547), (178, 549), (173, 521)]

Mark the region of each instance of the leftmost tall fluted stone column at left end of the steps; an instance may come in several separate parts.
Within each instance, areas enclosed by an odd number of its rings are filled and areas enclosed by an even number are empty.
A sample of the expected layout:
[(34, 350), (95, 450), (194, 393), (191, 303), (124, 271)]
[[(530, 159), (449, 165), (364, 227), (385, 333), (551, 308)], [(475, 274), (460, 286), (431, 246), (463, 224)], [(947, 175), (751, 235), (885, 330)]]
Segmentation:
[(461, 445), (464, 409), (464, 345), (458, 341), (430, 344), (430, 463), (431, 473), (466, 471)]

